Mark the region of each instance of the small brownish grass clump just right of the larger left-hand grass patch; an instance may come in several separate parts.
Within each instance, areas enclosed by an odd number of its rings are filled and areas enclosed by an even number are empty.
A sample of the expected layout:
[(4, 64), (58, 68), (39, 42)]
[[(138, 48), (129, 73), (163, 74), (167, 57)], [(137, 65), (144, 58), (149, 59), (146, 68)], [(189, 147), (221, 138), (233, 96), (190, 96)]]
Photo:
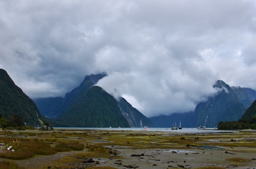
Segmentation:
[(81, 143), (59, 143), (55, 146), (55, 151), (57, 152), (69, 152), (71, 150), (81, 151), (84, 149), (84, 144)]

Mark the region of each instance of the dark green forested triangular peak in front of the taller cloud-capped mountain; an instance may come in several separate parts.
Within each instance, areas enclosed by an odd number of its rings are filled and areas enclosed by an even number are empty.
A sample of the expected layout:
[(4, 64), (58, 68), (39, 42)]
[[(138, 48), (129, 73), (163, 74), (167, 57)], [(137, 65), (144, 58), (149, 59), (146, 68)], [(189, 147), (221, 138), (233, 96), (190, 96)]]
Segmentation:
[(99, 86), (93, 86), (63, 118), (56, 121), (76, 127), (129, 127), (116, 100)]

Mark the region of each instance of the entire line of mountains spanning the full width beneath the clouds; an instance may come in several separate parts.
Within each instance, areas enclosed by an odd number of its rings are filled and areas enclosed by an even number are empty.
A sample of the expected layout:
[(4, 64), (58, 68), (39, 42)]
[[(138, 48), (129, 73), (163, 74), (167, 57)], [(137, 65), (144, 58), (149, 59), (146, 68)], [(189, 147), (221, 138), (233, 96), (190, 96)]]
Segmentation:
[(105, 73), (85, 76), (80, 86), (65, 97), (38, 98), (34, 102), (15, 85), (5, 70), (0, 69), (0, 113), (4, 118), (19, 115), (26, 125), (40, 126), (46, 120), (61, 127), (170, 128), (175, 123), (178, 126), (180, 121), (183, 127), (214, 127), (221, 121), (256, 117), (255, 90), (230, 87), (218, 80), (213, 85), (218, 92), (209, 96), (207, 101), (198, 103), (193, 112), (147, 118), (123, 97), (115, 99), (95, 86), (105, 76)]

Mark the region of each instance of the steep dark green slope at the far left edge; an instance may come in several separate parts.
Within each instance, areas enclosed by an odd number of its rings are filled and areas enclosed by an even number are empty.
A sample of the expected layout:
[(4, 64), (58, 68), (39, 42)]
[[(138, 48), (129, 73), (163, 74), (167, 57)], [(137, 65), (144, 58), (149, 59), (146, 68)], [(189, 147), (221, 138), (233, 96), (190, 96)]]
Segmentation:
[(39, 119), (42, 116), (37, 106), (3, 69), (0, 69), (0, 113), (4, 118), (12, 114), (19, 115), (26, 125), (41, 126)]

